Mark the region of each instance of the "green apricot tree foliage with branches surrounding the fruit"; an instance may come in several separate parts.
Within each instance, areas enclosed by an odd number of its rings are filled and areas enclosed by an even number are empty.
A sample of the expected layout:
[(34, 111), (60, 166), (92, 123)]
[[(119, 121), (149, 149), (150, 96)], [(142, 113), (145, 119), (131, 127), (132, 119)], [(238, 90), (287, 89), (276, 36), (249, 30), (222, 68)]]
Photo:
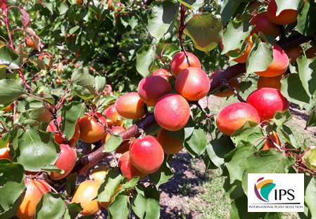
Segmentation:
[[(278, 26), (277, 39), (258, 32), (250, 42), (248, 37), (255, 26), (249, 20), (267, 11), (269, 2), (0, 1), (0, 110), (14, 102), (14, 110), (3, 112), (0, 117), (0, 148), (7, 147), (10, 139), (8, 148), (13, 160), (0, 159), (0, 218), (16, 215), (25, 195), (25, 178), (47, 180), (57, 192), (45, 193), (37, 204), (35, 218), (75, 218), (82, 206), (75, 202), (66, 205), (65, 196), (58, 190), (65, 185), (71, 197), (77, 175), (89, 176), (89, 168), (115, 156), (120, 145), (140, 136), (156, 135), (160, 126), (153, 107), (147, 107), (144, 118), (123, 119), (127, 129), (111, 136), (105, 145), (99, 140), (77, 152), (77, 162), (67, 177), (51, 180), (47, 173), (62, 174), (63, 170), (54, 165), (60, 146), (54, 140), (54, 133), (46, 132), (49, 124), (46, 118), (55, 123), (61, 116), (59, 129), (69, 141), (85, 112), (90, 111), (94, 116), (96, 111), (101, 113), (113, 105), (122, 93), (137, 91), (141, 78), (156, 69), (170, 69), (170, 61), (180, 51), (196, 55), (207, 73), (229, 65), (210, 81), (208, 94), (211, 94), (223, 86), (229, 88), (229, 81), (236, 77), (241, 81), (241, 92), (255, 86), (249, 78), (272, 63), (274, 43), (283, 50), (301, 45), (301, 57), (289, 65), (290, 74), (281, 80), (281, 93), (301, 109), (305, 108), (309, 114), (306, 128), (315, 126), (316, 61), (315, 57), (307, 58), (304, 51), (315, 44), (316, 4), (303, 0), (276, 0), (276, 3), (277, 13), (297, 10), (297, 21)], [(26, 37), (33, 47), (27, 46)], [(221, 39), (223, 49), (219, 45)], [(249, 44), (253, 46), (246, 63), (233, 62)], [(51, 54), (53, 67), (49, 67), (49, 56), (39, 58), (42, 51)], [(61, 84), (55, 79), (61, 79)], [(116, 92), (110, 91), (106, 84)], [(238, 94), (233, 98), (236, 102), (244, 101)], [(269, 123), (247, 121), (228, 136), (215, 128), (212, 109), (202, 109), (198, 100), (189, 101), (189, 105), (198, 107), (191, 108), (193, 116), (184, 128), (167, 134), (180, 140), (192, 157), (203, 159), (206, 169), (222, 170), (227, 177), (224, 195), (232, 199), (231, 218), (282, 216), (282, 213), (247, 212), (248, 173), (304, 174), (305, 212), (299, 215), (316, 217), (314, 147), (296, 141), (294, 131), (286, 126), (292, 117), (289, 110), (276, 112)], [(206, 121), (213, 125), (208, 126)], [(273, 131), (284, 136), (286, 142), (282, 145), (286, 146), (262, 150), (267, 134)], [(211, 139), (206, 138), (207, 133), (213, 133)], [(171, 154), (165, 156), (158, 171), (149, 174), (150, 180), (145, 183), (137, 176), (128, 181), (118, 166), (110, 167), (95, 199), (110, 201), (121, 185), (108, 207), (110, 218), (129, 218), (131, 211), (139, 218), (159, 218), (158, 188), (173, 176), (168, 165), (170, 159)]]

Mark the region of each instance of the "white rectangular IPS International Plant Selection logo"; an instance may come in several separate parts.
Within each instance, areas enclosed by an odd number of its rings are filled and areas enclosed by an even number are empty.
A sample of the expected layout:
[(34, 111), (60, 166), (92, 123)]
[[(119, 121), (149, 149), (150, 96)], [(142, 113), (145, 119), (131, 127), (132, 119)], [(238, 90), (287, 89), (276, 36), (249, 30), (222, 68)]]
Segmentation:
[(303, 210), (303, 174), (248, 174), (248, 212), (299, 212)]

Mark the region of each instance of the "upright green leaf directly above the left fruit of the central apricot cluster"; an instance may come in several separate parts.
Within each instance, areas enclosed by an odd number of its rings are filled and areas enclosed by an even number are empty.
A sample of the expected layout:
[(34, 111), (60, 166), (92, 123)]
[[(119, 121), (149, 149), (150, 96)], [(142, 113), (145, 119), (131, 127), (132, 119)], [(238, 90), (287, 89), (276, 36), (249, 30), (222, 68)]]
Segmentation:
[(142, 77), (147, 77), (155, 63), (156, 46), (143, 46), (136, 53), (136, 69)]

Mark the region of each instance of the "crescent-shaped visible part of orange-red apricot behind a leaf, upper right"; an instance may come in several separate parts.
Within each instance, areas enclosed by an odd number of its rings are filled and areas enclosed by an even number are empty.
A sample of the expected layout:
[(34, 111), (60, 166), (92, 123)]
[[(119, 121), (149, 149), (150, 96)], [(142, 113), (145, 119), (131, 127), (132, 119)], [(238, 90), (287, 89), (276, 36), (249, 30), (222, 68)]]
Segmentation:
[(289, 57), (277, 44), (273, 45), (273, 61), (263, 72), (255, 72), (263, 77), (277, 77), (283, 74), (289, 66)]

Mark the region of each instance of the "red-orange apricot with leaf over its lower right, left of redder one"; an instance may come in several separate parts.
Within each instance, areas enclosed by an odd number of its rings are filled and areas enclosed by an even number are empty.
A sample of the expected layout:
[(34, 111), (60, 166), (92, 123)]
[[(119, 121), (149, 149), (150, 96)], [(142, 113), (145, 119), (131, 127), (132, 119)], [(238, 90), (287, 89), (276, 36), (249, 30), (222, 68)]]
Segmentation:
[(232, 135), (237, 128), (244, 126), (246, 121), (260, 123), (255, 108), (246, 102), (234, 102), (222, 109), (216, 117), (216, 126), (225, 135)]

